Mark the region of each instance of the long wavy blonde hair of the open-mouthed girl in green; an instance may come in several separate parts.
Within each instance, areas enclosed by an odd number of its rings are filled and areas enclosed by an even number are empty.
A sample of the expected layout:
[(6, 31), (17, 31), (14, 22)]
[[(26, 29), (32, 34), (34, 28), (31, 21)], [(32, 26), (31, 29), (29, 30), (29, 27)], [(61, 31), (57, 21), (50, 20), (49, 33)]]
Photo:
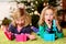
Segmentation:
[(55, 8), (52, 7), (52, 6), (47, 6), (47, 7), (45, 7), (45, 8), (42, 10), (41, 15), (40, 15), (38, 25), (43, 25), (43, 24), (44, 24), (44, 22), (45, 22), (45, 19), (44, 19), (44, 16), (45, 16), (45, 11), (48, 10), (48, 9), (53, 10), (53, 12), (54, 12), (54, 19), (56, 20), (56, 25), (57, 25), (58, 30), (61, 30), (61, 26), (59, 26), (59, 24), (58, 24), (58, 19), (57, 19), (57, 9), (55, 9)]

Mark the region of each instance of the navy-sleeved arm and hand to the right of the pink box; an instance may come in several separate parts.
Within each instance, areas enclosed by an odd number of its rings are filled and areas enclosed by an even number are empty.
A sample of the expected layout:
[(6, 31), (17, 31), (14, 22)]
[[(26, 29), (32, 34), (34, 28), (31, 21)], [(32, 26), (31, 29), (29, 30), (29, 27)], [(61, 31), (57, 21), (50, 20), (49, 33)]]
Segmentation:
[(31, 34), (31, 33), (32, 33), (32, 29), (31, 29), (30, 25), (29, 25), (29, 26), (25, 26), (25, 28), (23, 29), (23, 33), (25, 33), (25, 35), (26, 35), (30, 40), (35, 40), (35, 38), (36, 38), (35, 35)]

